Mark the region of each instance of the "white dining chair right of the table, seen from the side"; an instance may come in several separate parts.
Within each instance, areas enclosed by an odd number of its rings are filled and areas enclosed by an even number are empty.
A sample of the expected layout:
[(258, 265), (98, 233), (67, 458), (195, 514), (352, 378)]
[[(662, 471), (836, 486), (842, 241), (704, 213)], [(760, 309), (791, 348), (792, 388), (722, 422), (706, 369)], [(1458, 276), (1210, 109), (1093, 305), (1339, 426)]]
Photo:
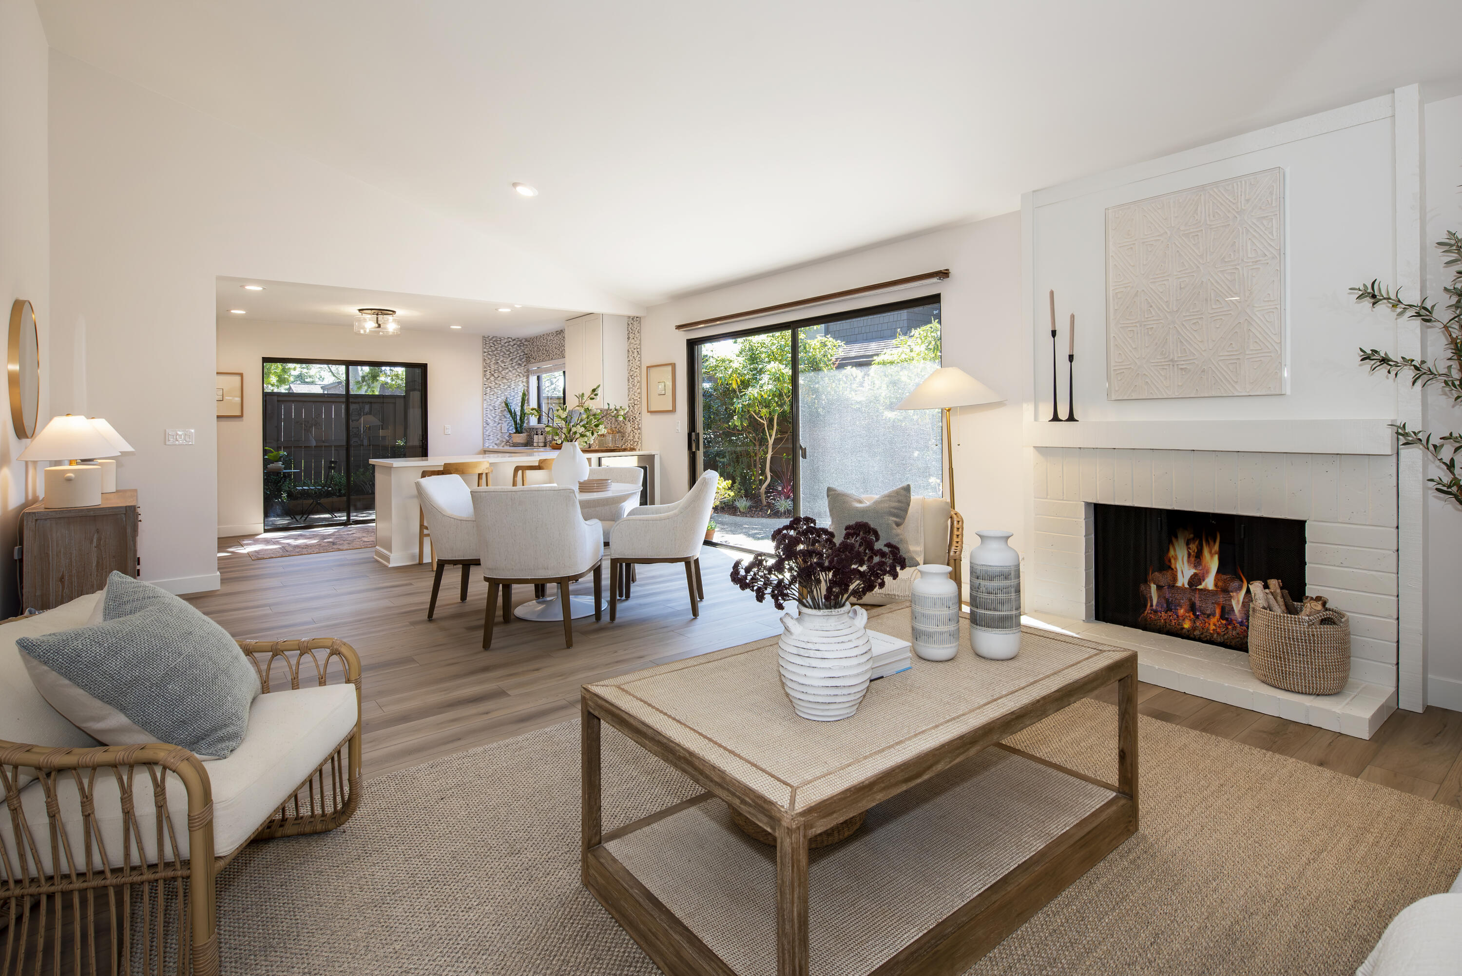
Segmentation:
[(614, 524), (610, 531), (610, 620), (616, 616), (618, 593), (630, 594), (630, 568), (651, 562), (686, 563), (686, 588), (690, 590), (690, 615), (700, 616), (706, 588), (700, 581), (700, 544), (715, 502), (715, 471), (705, 471), (686, 498), (671, 505), (640, 505)]

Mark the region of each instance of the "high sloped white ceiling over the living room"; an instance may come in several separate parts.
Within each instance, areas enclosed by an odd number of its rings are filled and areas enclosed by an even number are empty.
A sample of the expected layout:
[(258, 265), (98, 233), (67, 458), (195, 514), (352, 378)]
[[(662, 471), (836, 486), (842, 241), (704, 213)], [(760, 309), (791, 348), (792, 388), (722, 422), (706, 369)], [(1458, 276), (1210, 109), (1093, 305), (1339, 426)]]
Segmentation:
[(67, 54), (640, 303), (1462, 72), (1456, 0), (39, 7)]

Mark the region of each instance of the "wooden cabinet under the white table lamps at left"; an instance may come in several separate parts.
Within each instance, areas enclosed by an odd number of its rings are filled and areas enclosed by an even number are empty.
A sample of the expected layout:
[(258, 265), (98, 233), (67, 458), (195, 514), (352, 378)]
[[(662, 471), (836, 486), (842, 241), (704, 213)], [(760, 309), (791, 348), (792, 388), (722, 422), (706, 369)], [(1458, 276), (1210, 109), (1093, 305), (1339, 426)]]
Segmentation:
[(20, 512), (20, 609), (50, 610), (107, 585), (111, 571), (137, 575), (137, 492), (91, 508)]

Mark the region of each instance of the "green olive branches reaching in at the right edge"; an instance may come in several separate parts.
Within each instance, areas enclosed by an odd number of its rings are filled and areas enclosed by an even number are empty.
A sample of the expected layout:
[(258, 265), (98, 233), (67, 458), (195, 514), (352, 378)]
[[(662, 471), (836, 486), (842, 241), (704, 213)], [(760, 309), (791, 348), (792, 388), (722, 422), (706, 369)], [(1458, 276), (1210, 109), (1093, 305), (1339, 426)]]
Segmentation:
[[(1456, 231), (1447, 231), (1446, 240), (1437, 241), (1442, 252), (1443, 268), (1453, 268), (1452, 284), (1442, 288), (1450, 301), (1439, 312), (1437, 303), (1427, 303), (1425, 296), (1420, 301), (1404, 301), (1401, 288), (1392, 293), (1386, 285), (1371, 279), (1370, 284), (1351, 288), (1355, 300), (1370, 304), (1370, 307), (1386, 306), (1398, 319), (1415, 319), (1423, 325), (1442, 329), (1446, 337), (1446, 357), (1449, 361), (1412, 359), (1409, 356), (1392, 356), (1382, 350), (1363, 348), (1361, 363), (1370, 364), (1370, 372), (1382, 370), (1390, 378), (1402, 375), (1411, 376), (1412, 386), (1427, 388), (1440, 385), (1452, 397), (1452, 402), (1462, 407), (1462, 237)], [(1462, 435), (1452, 430), (1442, 436), (1433, 436), (1427, 430), (1412, 430), (1405, 421), (1392, 424), (1396, 438), (1405, 448), (1421, 448), (1433, 461), (1442, 465), (1446, 477), (1433, 477), (1427, 481), (1433, 490), (1455, 502), (1462, 503), (1462, 477), (1458, 477), (1458, 454), (1462, 452)]]

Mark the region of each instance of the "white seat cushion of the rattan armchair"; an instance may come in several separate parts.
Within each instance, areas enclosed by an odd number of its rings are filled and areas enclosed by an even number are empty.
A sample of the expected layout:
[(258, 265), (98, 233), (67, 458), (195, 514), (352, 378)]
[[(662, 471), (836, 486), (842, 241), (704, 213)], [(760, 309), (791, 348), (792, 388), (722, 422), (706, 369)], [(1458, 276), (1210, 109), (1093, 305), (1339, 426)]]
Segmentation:
[[(244, 740), (225, 759), (205, 762), (213, 792), (213, 853), (230, 855), (279, 809), (294, 795), (294, 790), (314, 771), (341, 742), (355, 729), (360, 705), (354, 685), (326, 685), (325, 688), (301, 688), (298, 691), (276, 691), (254, 698), (249, 710), (249, 732)], [(89, 776), (89, 771), (85, 773)], [(73, 850), (83, 850), (80, 802), (76, 783), (70, 776), (57, 778), (57, 795), (61, 803), (61, 821), (72, 838)], [(108, 860), (113, 868), (121, 865), (121, 802), (117, 780), (111, 770), (96, 770), (94, 780), (96, 824), (101, 830)], [(189, 856), (187, 837), (187, 790), (183, 781), (167, 776), (167, 803), (173, 827), (177, 833), (178, 855)], [(37, 838), (41, 874), (51, 872), (51, 852), (45, 841), (45, 795), (41, 783), (31, 783), (20, 793), (20, 805), (26, 822)], [(137, 830), (142, 834), (142, 849), (149, 863), (156, 860), (156, 821), (152, 817), (154, 800), (151, 778), (139, 771), (133, 778), (133, 809), (137, 812)], [(7, 819), (0, 814), (0, 821)], [(3, 843), (10, 857), (16, 856), (15, 834), (6, 824)], [(28, 859), (29, 862), (29, 859)], [(16, 863), (12, 860), (12, 863)], [(34, 874), (34, 863), (32, 871)]]

